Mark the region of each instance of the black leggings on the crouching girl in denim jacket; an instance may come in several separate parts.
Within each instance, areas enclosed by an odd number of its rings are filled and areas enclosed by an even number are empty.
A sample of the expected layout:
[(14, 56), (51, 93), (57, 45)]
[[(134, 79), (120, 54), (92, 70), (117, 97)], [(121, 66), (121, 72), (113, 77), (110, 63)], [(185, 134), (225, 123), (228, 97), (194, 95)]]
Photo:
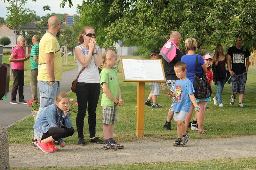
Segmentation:
[(43, 134), (41, 140), (44, 140), (45, 138), (48, 138), (52, 136), (54, 140), (58, 140), (60, 138), (67, 138), (68, 136), (72, 136), (74, 134), (75, 130), (74, 128), (68, 129), (65, 126), (62, 126), (60, 128), (50, 128), (46, 133)]

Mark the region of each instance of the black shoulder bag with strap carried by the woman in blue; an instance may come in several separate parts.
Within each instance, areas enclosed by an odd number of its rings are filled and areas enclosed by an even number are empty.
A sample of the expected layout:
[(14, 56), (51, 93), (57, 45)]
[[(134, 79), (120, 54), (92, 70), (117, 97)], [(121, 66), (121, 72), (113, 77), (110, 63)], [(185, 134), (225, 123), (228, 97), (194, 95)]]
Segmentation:
[(195, 66), (195, 75), (194, 75), (194, 89), (195, 89), (195, 97), (197, 99), (206, 99), (212, 95), (212, 88), (209, 85), (207, 78), (204, 73), (196, 74), (198, 63), (198, 55), (196, 56), (196, 66)]

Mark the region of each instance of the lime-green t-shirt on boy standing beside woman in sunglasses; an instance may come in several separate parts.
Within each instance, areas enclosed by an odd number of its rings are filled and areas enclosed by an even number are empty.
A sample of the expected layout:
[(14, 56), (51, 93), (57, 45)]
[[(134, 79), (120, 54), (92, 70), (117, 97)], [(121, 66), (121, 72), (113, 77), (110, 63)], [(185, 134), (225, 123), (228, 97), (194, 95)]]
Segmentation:
[[(103, 88), (102, 83), (108, 83), (108, 90), (112, 93), (112, 95), (118, 99), (118, 81), (117, 81), (117, 72), (115, 69), (109, 70), (107, 68), (103, 68), (100, 72), (100, 85)], [(108, 97), (105, 93), (102, 94), (101, 97), (101, 106), (115, 106), (116, 104)]]

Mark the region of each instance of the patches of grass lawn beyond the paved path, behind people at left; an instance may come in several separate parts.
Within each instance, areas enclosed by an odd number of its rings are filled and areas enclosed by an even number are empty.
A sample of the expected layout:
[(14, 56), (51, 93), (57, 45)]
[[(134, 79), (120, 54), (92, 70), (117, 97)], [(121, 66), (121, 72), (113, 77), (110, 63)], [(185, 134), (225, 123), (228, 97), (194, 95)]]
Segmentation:
[[(2, 63), (11, 64), (11, 62), (9, 62), (9, 57), (10, 55), (3, 55)], [(25, 84), (27, 84), (30, 82), (30, 59), (27, 61), (24, 61), (24, 63), (25, 63), (24, 82)], [(64, 65), (64, 56), (62, 57), (62, 64), (63, 64), (62, 71), (68, 71), (77, 67), (76, 60), (74, 62), (74, 56), (71, 56), (71, 55), (68, 56), (68, 66)], [(13, 84), (13, 75), (10, 76), (9, 89), (12, 88), (12, 84)]]

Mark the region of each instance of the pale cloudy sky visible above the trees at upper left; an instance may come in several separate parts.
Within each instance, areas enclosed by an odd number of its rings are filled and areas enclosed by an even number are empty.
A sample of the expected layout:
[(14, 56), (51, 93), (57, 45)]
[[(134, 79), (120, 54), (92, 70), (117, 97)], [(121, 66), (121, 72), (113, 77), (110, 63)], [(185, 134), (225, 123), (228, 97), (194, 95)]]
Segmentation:
[[(42, 17), (46, 14), (46, 11), (43, 10), (44, 5), (49, 5), (51, 7), (51, 11), (48, 13), (67, 13), (69, 15), (76, 14), (77, 4), (81, 5), (82, 0), (72, 0), (73, 6), (71, 8), (68, 7), (68, 3), (64, 8), (60, 7), (61, 0), (37, 0), (36, 2), (32, 0), (28, 0), (27, 4), (24, 6), (25, 8), (29, 8), (30, 10), (36, 11), (36, 15)], [(7, 0), (4, 3), (4, 0), (0, 1), (0, 17), (4, 17), (6, 19), (7, 10), (6, 7), (9, 5)]]

